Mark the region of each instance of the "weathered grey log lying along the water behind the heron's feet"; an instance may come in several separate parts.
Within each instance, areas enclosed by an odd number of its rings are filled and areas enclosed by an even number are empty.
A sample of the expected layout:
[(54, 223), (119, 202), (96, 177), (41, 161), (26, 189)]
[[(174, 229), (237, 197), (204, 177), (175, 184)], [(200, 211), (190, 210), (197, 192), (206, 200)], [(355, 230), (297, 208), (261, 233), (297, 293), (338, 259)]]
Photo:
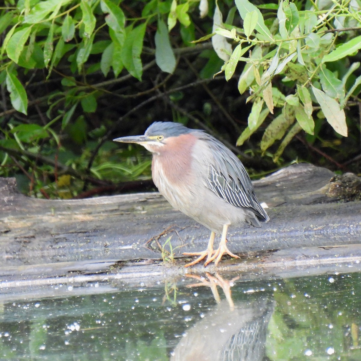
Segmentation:
[[(230, 227), (232, 252), (293, 249), (296, 257), (300, 248), (361, 244), (361, 181), (355, 175), (295, 164), (254, 185), (270, 221), (261, 229)], [(19, 194), (15, 180), (3, 178), (0, 196), (0, 282), (39, 273), (39, 265), (42, 274), (59, 275), (160, 259), (170, 236), (179, 257), (205, 249), (210, 234), (155, 192), (41, 200)]]

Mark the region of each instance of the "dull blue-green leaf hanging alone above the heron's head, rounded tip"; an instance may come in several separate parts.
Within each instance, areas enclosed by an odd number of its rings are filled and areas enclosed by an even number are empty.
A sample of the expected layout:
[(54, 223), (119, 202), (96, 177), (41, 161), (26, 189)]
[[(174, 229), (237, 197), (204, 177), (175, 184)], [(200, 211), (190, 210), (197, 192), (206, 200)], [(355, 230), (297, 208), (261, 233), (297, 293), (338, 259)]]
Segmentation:
[(156, 63), (162, 71), (173, 74), (175, 69), (175, 56), (170, 45), (168, 27), (164, 21), (158, 21), (157, 32), (155, 35), (156, 44)]

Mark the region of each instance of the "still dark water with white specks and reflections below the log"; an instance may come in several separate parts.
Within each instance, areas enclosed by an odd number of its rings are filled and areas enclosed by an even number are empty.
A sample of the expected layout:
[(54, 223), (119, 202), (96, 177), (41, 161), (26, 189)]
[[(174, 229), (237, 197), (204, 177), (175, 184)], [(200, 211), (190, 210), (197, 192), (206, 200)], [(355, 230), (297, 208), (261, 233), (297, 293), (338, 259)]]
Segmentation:
[(225, 278), (3, 301), (0, 360), (361, 360), (360, 273)]

